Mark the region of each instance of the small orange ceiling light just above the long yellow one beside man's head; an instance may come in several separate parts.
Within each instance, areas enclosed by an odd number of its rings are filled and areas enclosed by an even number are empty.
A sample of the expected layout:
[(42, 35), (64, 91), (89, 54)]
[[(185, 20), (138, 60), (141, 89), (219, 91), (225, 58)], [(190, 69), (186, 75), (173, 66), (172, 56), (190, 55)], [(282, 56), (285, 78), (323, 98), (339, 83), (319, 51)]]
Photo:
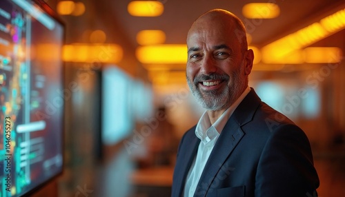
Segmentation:
[(166, 41), (166, 34), (161, 30), (141, 30), (137, 33), (139, 45), (157, 45)]

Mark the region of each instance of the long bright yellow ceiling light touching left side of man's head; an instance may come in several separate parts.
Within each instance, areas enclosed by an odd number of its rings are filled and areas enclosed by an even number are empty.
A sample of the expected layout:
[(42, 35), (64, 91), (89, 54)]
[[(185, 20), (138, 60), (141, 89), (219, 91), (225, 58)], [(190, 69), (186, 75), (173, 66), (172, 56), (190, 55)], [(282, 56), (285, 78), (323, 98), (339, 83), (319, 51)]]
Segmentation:
[(141, 63), (183, 63), (187, 61), (187, 45), (148, 45), (138, 47)]

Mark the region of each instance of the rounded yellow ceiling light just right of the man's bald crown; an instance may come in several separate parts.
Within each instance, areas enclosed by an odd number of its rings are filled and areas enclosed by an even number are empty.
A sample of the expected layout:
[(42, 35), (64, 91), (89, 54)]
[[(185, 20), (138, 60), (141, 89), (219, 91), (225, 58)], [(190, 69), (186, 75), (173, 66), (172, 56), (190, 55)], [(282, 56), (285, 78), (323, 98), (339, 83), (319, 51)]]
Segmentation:
[(242, 14), (248, 19), (273, 19), (279, 13), (279, 6), (275, 3), (248, 3), (242, 8)]

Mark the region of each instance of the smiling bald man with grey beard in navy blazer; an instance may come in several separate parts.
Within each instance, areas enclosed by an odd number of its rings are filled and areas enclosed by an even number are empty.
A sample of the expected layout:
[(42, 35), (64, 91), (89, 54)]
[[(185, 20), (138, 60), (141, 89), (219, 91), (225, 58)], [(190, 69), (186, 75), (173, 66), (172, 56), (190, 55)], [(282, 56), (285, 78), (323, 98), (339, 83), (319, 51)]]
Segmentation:
[(254, 54), (242, 21), (210, 10), (187, 46), (188, 85), (207, 111), (181, 139), (172, 196), (316, 196), (308, 138), (248, 87)]

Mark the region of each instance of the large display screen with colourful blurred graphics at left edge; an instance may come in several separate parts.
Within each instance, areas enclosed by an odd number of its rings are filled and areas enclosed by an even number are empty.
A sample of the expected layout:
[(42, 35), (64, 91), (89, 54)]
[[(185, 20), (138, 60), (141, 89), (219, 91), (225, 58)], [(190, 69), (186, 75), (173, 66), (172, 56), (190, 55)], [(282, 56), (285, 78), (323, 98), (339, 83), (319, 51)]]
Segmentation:
[(35, 2), (0, 3), (0, 197), (28, 194), (63, 168), (64, 29)]

